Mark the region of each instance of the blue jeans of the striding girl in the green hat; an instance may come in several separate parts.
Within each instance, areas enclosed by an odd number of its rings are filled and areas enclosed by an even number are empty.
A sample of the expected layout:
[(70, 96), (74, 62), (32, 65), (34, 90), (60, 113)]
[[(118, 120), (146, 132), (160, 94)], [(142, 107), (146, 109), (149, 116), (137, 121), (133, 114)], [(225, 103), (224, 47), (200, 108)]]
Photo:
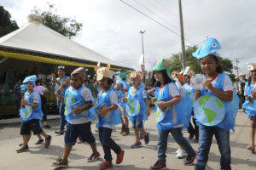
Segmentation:
[(195, 155), (195, 150), (183, 137), (182, 127), (170, 128), (168, 130), (158, 129), (157, 161), (166, 162), (167, 138), (169, 133), (172, 133), (173, 139), (177, 142), (177, 144), (182, 146), (183, 150), (188, 153), (188, 156)]

